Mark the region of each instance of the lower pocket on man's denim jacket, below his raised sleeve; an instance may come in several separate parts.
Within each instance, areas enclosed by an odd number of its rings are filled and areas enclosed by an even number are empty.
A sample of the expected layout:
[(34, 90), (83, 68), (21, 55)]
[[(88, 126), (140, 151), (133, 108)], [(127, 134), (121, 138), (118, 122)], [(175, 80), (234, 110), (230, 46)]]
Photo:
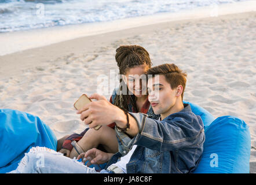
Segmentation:
[(146, 149), (145, 151), (145, 166), (147, 171), (154, 173), (162, 173), (163, 152)]

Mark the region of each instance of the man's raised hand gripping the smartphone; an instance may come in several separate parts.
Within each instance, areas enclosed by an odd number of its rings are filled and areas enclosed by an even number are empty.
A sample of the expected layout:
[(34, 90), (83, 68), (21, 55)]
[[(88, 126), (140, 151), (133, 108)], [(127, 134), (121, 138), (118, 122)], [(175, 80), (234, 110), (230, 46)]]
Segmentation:
[(94, 93), (89, 98), (97, 99), (97, 101), (87, 103), (77, 113), (81, 114), (81, 120), (85, 121), (85, 124), (89, 125), (90, 128), (96, 127), (97, 125), (109, 125), (118, 121), (120, 115), (124, 114), (123, 110), (112, 105), (103, 95)]

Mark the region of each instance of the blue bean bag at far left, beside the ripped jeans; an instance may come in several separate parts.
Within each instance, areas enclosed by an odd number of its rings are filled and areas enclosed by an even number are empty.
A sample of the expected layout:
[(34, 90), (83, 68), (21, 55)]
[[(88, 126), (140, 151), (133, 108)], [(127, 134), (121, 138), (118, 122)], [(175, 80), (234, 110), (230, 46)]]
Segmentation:
[(17, 168), (31, 147), (56, 150), (57, 139), (39, 117), (18, 110), (0, 109), (0, 173)]

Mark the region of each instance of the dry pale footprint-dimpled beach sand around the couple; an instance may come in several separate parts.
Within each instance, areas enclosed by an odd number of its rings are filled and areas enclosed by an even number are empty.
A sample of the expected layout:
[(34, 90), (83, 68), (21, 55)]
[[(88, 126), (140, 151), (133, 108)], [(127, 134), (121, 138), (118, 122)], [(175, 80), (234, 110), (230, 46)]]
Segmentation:
[[(188, 73), (184, 100), (214, 117), (237, 116), (256, 146), (256, 12), (170, 21), (85, 36), (0, 57), (0, 108), (39, 116), (57, 139), (82, 132), (73, 103), (118, 73), (115, 49), (140, 45), (153, 66), (175, 63)], [(29, 43), (29, 42), (28, 42)], [(115, 79), (116, 81), (116, 79)], [(113, 87), (113, 86), (112, 86)], [(109, 99), (112, 88), (102, 94)], [(251, 172), (256, 150), (251, 149)]]

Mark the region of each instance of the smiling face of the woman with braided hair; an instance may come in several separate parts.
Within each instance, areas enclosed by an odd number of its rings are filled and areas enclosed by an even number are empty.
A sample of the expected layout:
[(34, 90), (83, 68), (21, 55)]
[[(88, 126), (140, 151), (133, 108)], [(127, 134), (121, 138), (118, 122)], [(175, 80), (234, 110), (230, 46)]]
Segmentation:
[[(145, 73), (148, 71), (147, 64), (137, 65), (126, 71), (125, 82), (128, 90), (136, 97), (147, 95), (147, 77)], [(129, 93), (130, 93), (129, 92)]]

